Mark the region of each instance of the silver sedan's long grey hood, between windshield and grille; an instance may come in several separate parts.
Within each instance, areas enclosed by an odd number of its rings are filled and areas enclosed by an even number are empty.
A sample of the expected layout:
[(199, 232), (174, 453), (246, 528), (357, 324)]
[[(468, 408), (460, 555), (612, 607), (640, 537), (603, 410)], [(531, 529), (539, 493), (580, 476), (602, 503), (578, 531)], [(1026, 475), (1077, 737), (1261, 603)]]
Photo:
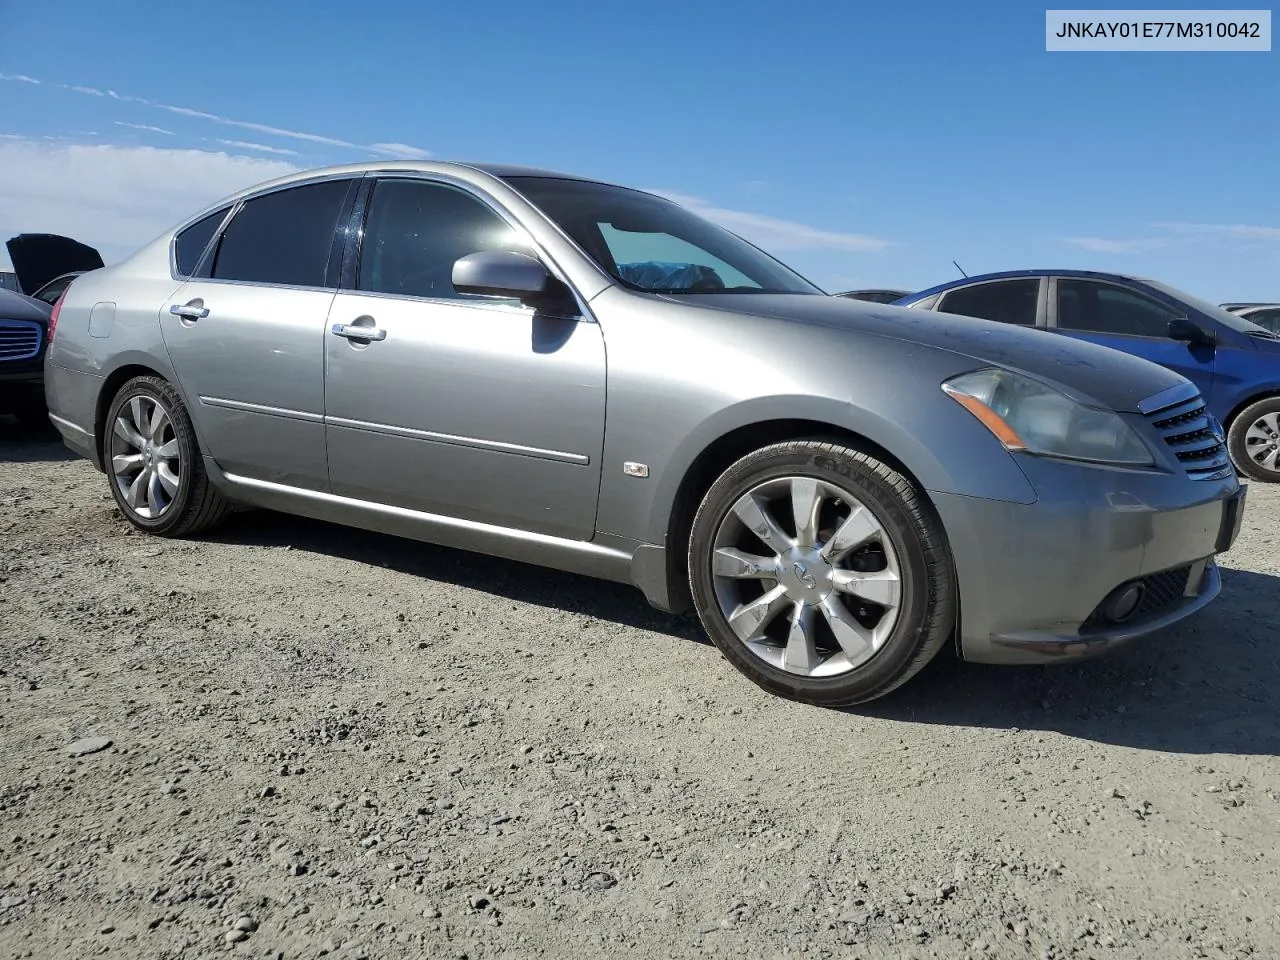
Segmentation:
[(1110, 347), (955, 314), (809, 294), (719, 293), (667, 300), (934, 347), (1053, 381), (1084, 401), (1123, 412), (1137, 412), (1140, 401), (1185, 380)]

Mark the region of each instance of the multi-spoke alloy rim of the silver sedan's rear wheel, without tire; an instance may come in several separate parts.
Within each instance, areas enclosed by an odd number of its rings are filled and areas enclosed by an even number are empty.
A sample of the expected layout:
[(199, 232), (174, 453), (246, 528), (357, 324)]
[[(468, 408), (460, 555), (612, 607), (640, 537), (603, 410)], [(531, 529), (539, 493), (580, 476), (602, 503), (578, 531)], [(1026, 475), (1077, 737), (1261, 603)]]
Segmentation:
[(159, 520), (173, 506), (182, 453), (169, 411), (136, 394), (111, 425), (111, 475), (124, 503), (142, 520)]

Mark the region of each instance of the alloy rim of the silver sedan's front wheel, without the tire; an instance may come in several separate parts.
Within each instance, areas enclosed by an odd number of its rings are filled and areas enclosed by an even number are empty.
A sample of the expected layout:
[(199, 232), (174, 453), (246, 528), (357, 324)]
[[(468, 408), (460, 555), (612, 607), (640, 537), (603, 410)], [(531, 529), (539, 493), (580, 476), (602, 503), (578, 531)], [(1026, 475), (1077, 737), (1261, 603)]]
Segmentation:
[(805, 677), (860, 667), (902, 608), (901, 566), (879, 520), (812, 476), (767, 480), (733, 503), (716, 534), (712, 580), (746, 649)]

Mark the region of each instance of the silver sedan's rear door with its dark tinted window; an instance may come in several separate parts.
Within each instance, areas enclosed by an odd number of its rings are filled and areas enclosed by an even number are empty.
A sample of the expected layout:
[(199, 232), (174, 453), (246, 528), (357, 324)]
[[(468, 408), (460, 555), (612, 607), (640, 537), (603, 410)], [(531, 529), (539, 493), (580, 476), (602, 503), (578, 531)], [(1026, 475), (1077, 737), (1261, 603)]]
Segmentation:
[(247, 200), (160, 311), (205, 453), (229, 474), (328, 489), (324, 332), (357, 183)]

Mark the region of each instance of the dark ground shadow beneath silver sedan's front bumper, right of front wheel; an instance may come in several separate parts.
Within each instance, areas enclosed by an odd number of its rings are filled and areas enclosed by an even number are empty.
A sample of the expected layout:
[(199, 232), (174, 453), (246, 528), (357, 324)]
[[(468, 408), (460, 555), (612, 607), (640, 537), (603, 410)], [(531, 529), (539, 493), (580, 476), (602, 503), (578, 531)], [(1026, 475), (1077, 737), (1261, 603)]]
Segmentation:
[(913, 723), (1039, 730), (1183, 754), (1280, 754), (1280, 577), (1222, 570), (1222, 595), (1183, 623), (1073, 664), (938, 657), (859, 708)]

